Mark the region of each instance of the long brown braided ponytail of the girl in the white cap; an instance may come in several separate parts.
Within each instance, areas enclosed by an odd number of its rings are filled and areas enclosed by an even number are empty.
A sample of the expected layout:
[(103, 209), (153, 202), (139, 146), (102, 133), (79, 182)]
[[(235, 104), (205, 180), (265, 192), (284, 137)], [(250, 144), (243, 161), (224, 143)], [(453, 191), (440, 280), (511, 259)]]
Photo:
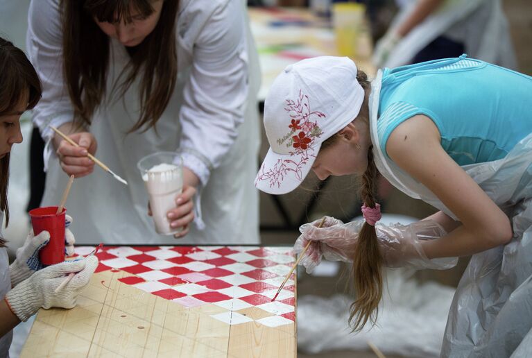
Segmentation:
[[(357, 81), (366, 95), (359, 115), (355, 121), (366, 123), (369, 128), (370, 81), (363, 71), (358, 71)], [(327, 148), (336, 142), (338, 135), (334, 135), (323, 142), (321, 148)], [(373, 148), (368, 150), (368, 167), (362, 175), (360, 197), (368, 207), (375, 207), (375, 185), (377, 180), (377, 167), (373, 160)], [(379, 312), (379, 302), (382, 298), (382, 257), (377, 241), (375, 226), (367, 222), (363, 224), (358, 239), (355, 242), (352, 257), (352, 282), (354, 289), (354, 302), (350, 306), (349, 323), (353, 331), (360, 331), (370, 321), (375, 324)]]

